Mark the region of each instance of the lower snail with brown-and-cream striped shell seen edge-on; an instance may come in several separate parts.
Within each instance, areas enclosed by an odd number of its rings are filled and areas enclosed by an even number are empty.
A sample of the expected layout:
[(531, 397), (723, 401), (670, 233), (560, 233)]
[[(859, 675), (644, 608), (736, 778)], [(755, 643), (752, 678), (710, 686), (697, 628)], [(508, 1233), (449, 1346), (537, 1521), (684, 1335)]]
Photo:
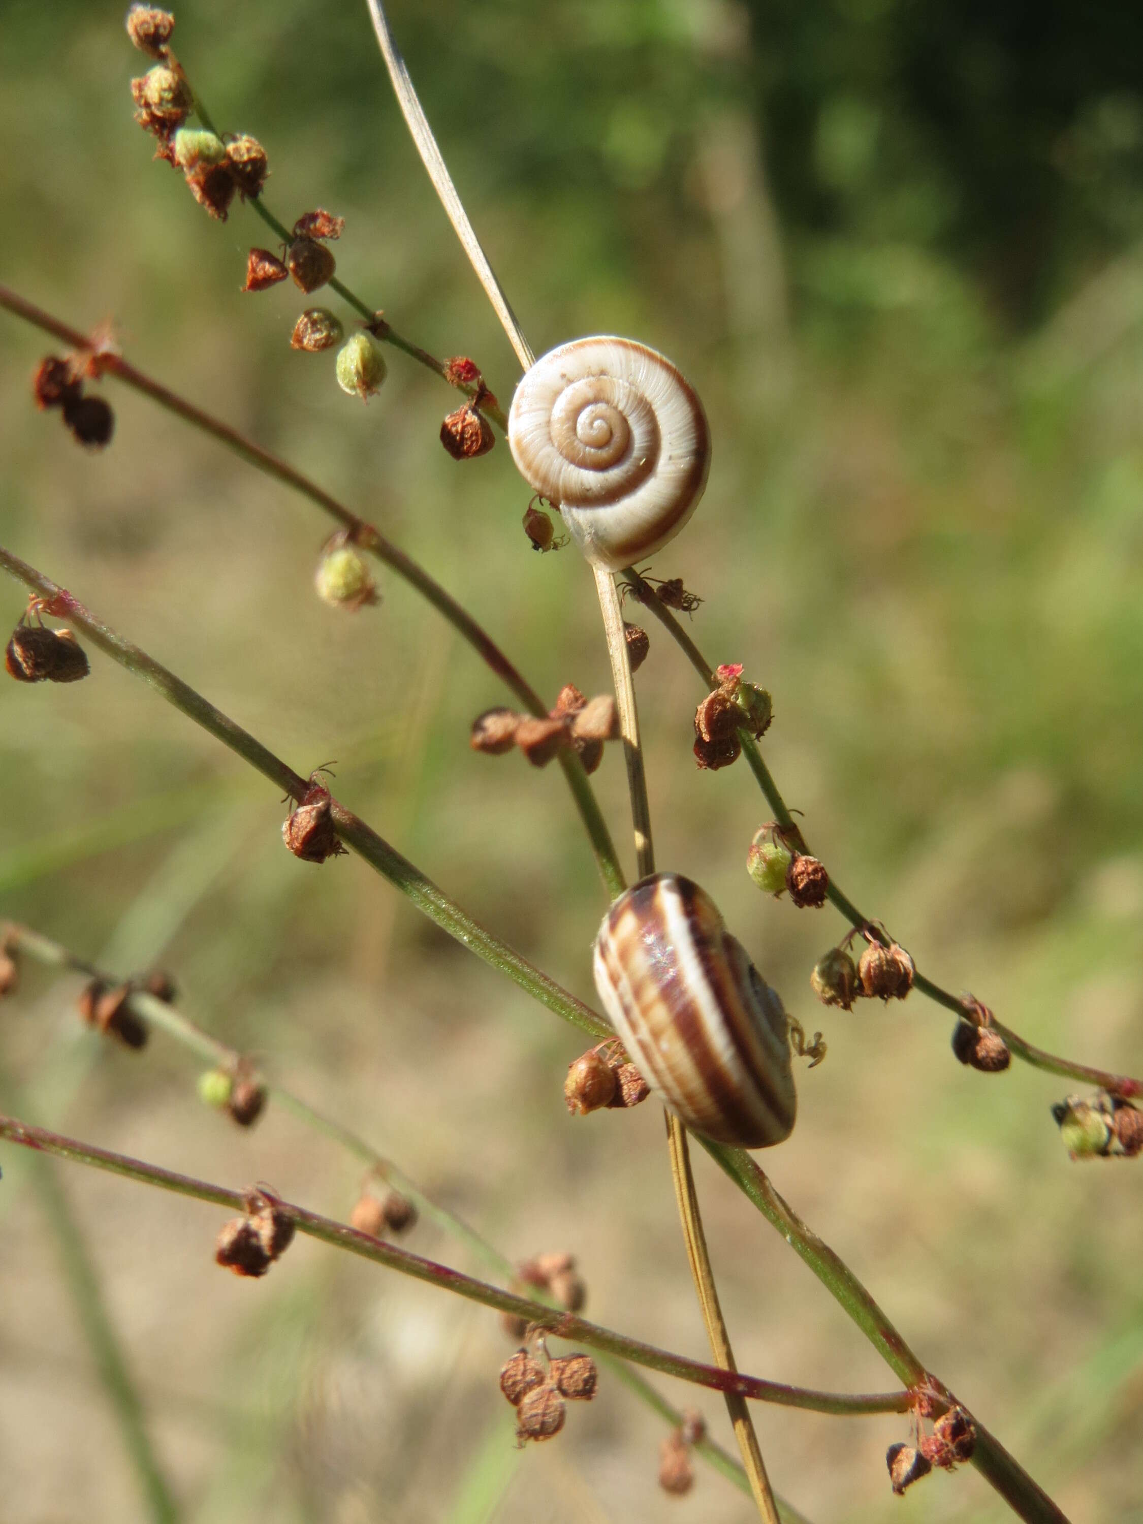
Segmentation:
[(698, 884), (655, 873), (620, 895), (594, 977), (631, 1061), (693, 1132), (739, 1148), (789, 1137), (786, 1013)]

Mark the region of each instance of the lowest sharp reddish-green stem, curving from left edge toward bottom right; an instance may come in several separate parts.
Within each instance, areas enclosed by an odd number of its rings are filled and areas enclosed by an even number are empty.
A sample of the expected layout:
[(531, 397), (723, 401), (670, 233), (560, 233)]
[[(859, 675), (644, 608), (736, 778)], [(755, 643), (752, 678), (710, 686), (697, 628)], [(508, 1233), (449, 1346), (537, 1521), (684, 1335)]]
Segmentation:
[[(78, 1138), (62, 1137), (44, 1128), (34, 1128), (15, 1117), (0, 1116), (0, 1138), (18, 1143), (23, 1148), (35, 1149), (41, 1154), (53, 1154), (79, 1164), (90, 1164), (94, 1169), (122, 1175), (145, 1186), (158, 1186), (163, 1190), (175, 1192), (181, 1196), (194, 1196), (198, 1201), (210, 1201), (215, 1205), (229, 1207), (235, 1212), (247, 1210), (247, 1195), (241, 1190), (230, 1190), (226, 1186), (215, 1186), (190, 1175), (180, 1175), (157, 1164), (148, 1164), (123, 1154), (113, 1154), (108, 1149), (82, 1143)], [(453, 1269), (448, 1265), (437, 1265), (431, 1259), (413, 1254), (411, 1250), (398, 1248), (384, 1239), (372, 1237), (369, 1233), (358, 1233), (357, 1228), (334, 1222), (305, 1207), (293, 1205), (288, 1201), (279, 1202), (280, 1210), (293, 1221), (299, 1233), (331, 1244), (334, 1248), (349, 1250), (363, 1259), (372, 1259), (387, 1269), (411, 1276), (415, 1280), (428, 1282), (440, 1291), (451, 1291), (454, 1295), (479, 1301), (497, 1312), (507, 1312), (512, 1317), (524, 1318), (544, 1332), (558, 1338), (570, 1340), (576, 1344), (587, 1344), (617, 1355), (622, 1359), (634, 1361), (648, 1370), (657, 1370), (664, 1376), (675, 1376), (693, 1385), (709, 1387), (713, 1391), (738, 1391), (744, 1398), (756, 1402), (774, 1402), (779, 1407), (803, 1408), (811, 1413), (829, 1413), (846, 1417), (866, 1417), (876, 1413), (907, 1413), (911, 1404), (908, 1391), (870, 1391), (870, 1393), (834, 1393), (812, 1391), (806, 1387), (789, 1387), (783, 1382), (764, 1381), (760, 1376), (744, 1376), (738, 1372), (719, 1370), (715, 1366), (704, 1366), (700, 1361), (687, 1359), (684, 1355), (674, 1355), (669, 1350), (645, 1344), (642, 1340), (628, 1338), (613, 1329), (588, 1323), (572, 1312), (558, 1308), (546, 1308), (529, 1297), (520, 1297), (512, 1291), (501, 1291), (474, 1276)]]

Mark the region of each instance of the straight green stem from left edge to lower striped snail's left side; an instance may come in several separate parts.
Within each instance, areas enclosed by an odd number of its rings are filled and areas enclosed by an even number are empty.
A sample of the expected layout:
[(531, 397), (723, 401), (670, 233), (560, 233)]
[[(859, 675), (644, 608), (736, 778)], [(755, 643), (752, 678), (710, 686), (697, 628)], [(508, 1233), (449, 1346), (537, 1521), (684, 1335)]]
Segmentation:
[[(43, 600), (47, 613), (58, 619), (67, 619), (87, 639), (105, 651), (114, 661), (126, 668), (145, 683), (149, 683), (169, 704), (181, 710), (197, 725), (201, 725), (212, 736), (230, 747), (238, 756), (255, 767), (264, 777), (268, 777), (293, 799), (300, 800), (308, 780), (294, 773), (279, 757), (274, 756), (261, 741), (256, 741), (247, 730), (235, 724), (219, 709), (215, 709), (201, 693), (197, 693), (187, 683), (175, 677), (165, 666), (149, 657), (139, 646), (116, 634), (114, 629), (102, 623), (90, 610), (84, 608), (69, 591), (52, 582), (35, 567), (27, 565), (18, 556), (0, 546), (0, 568), (32, 588)], [(338, 837), (347, 847), (363, 856), (384, 878), (395, 884), (424, 914), (434, 920), (451, 937), (477, 957), (491, 963), (501, 974), (507, 974), (517, 985), (530, 995), (555, 1010), (556, 1015), (570, 1021), (572, 1026), (590, 1033), (593, 1038), (608, 1038), (614, 1033), (602, 1017), (596, 1015), (575, 995), (562, 989), (553, 978), (543, 974), (527, 962), (515, 948), (494, 937), (466, 911), (454, 904), (430, 878), (427, 878), (408, 858), (404, 858), (383, 837), (372, 831), (352, 811), (337, 800), (331, 802), (331, 815)]]

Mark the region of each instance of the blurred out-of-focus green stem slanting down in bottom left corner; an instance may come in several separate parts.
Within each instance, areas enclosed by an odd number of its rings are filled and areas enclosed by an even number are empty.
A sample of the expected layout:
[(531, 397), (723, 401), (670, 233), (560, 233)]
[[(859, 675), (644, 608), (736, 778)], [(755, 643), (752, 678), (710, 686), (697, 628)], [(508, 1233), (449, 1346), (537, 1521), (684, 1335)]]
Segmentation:
[[(9, 1105), (14, 1097), (8, 1076), (0, 1076), (0, 1093), (5, 1105)], [(178, 1504), (151, 1445), (146, 1410), (104, 1301), (99, 1274), (87, 1250), (84, 1231), (50, 1160), (37, 1155), (34, 1178), (37, 1201), (55, 1236), (64, 1280), (94, 1358), (99, 1381), (119, 1423), (123, 1448), (146, 1500), (146, 1513), (154, 1524), (178, 1524)]]

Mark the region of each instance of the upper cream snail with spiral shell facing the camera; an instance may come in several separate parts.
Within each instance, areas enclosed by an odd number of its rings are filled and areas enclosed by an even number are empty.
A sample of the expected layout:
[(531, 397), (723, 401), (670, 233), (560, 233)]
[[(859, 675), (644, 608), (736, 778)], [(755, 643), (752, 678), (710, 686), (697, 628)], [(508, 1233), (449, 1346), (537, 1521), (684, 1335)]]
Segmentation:
[(610, 572), (674, 539), (710, 468), (696, 393), (631, 338), (575, 338), (541, 355), (512, 398), (507, 442), (587, 559)]

